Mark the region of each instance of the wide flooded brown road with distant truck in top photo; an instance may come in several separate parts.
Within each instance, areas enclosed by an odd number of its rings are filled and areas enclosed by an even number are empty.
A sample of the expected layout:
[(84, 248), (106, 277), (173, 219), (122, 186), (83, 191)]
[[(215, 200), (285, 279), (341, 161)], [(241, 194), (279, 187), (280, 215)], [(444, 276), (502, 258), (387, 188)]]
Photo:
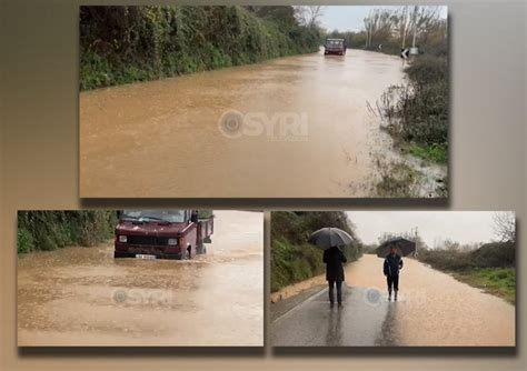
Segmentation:
[(402, 81), (348, 50), (82, 92), (80, 195), (369, 195), (390, 143), (367, 103)]

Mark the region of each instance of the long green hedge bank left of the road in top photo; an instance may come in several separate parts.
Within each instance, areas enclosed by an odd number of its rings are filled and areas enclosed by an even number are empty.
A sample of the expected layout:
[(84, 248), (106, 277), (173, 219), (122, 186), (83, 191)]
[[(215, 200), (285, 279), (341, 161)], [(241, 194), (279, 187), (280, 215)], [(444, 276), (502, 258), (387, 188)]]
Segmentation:
[(309, 53), (319, 28), (294, 7), (80, 7), (80, 89)]

